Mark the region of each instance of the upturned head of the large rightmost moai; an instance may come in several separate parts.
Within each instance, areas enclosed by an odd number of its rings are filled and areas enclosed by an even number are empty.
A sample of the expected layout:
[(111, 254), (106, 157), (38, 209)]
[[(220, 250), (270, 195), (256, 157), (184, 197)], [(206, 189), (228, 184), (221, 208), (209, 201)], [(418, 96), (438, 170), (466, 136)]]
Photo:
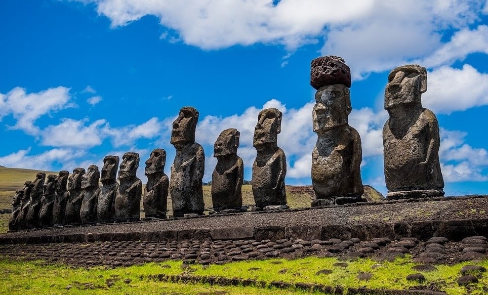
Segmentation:
[(388, 75), (385, 90), (385, 109), (403, 104), (421, 105), (422, 93), (427, 91), (427, 70), (419, 65), (397, 67)]

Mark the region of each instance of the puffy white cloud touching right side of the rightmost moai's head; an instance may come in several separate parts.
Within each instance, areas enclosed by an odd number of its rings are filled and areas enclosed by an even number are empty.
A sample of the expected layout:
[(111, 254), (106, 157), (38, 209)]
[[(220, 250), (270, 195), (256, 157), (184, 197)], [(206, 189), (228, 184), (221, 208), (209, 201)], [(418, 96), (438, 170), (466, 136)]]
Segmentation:
[(488, 74), (471, 65), (443, 66), (428, 73), (422, 104), (434, 113), (450, 114), (488, 104)]

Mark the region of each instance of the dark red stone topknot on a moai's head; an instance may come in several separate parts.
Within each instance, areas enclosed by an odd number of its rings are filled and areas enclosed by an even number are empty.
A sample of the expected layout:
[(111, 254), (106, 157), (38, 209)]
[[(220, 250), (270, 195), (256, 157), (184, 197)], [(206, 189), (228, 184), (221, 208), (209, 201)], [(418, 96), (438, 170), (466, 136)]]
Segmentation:
[(310, 65), (310, 85), (315, 89), (342, 84), (351, 87), (351, 69), (339, 56), (322, 56), (312, 60)]

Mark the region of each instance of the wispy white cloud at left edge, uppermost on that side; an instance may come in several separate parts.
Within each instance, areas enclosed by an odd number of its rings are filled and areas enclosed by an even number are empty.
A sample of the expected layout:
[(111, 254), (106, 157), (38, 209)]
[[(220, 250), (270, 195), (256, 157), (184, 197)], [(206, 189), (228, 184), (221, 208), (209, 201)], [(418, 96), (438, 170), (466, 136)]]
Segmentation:
[(34, 122), (50, 112), (73, 107), (70, 103), (69, 88), (49, 88), (37, 93), (26, 93), (24, 88), (16, 87), (7, 94), (0, 95), (3, 116), (12, 114), (17, 120), (12, 129), (22, 130), (29, 135), (38, 135), (40, 130)]

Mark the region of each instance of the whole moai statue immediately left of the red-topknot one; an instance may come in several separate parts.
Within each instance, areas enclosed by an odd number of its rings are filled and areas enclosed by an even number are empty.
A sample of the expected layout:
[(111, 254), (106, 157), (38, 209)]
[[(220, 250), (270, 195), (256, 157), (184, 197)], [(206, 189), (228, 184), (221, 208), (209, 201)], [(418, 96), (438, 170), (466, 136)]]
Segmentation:
[(264, 109), (259, 112), (254, 129), (253, 145), (258, 154), (253, 163), (251, 187), (256, 206), (262, 210), (288, 208), (284, 191), (287, 159), (277, 145), (282, 116), (278, 109)]

